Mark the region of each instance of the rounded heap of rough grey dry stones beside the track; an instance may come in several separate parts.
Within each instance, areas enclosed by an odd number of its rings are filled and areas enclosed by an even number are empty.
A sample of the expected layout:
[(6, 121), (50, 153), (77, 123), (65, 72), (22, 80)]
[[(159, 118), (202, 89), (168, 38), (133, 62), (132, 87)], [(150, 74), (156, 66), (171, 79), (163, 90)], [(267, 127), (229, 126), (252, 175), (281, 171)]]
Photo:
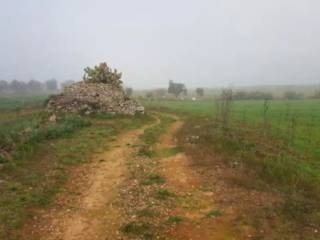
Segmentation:
[(122, 88), (104, 83), (79, 82), (66, 87), (62, 94), (50, 98), (47, 106), (52, 112), (81, 112), (91, 114), (143, 113), (144, 107), (130, 99)]

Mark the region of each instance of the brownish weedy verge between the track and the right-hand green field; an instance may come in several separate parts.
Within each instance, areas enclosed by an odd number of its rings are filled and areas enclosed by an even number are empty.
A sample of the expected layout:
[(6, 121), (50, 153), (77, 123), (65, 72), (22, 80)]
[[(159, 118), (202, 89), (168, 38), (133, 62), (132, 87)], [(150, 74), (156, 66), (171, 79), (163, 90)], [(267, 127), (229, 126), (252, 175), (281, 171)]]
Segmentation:
[(268, 210), (281, 222), (278, 236), (316, 236), (314, 229), (320, 224), (318, 162), (293, 151), (279, 139), (260, 135), (253, 126), (232, 122), (223, 128), (208, 118), (188, 118), (179, 133), (179, 142), (195, 164), (210, 169), (210, 165), (224, 163), (233, 171), (246, 173), (233, 183), (279, 196), (279, 204)]

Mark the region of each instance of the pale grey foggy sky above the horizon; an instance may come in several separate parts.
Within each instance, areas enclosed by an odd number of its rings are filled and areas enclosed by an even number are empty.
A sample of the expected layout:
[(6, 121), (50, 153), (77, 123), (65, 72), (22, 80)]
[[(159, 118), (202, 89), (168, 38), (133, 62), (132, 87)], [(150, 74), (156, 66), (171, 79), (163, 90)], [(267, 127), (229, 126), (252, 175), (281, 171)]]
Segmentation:
[(0, 0), (0, 79), (133, 88), (320, 83), (319, 0)]

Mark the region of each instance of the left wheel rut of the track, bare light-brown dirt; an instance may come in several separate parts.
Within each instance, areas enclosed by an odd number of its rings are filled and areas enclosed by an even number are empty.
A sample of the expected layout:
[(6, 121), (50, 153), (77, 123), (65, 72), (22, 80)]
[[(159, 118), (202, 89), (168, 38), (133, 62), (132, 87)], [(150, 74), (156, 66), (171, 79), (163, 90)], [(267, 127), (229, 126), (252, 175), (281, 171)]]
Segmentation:
[(76, 169), (55, 207), (42, 210), (25, 235), (43, 240), (119, 239), (123, 213), (118, 188), (127, 177), (126, 160), (145, 128), (120, 135), (112, 148)]

